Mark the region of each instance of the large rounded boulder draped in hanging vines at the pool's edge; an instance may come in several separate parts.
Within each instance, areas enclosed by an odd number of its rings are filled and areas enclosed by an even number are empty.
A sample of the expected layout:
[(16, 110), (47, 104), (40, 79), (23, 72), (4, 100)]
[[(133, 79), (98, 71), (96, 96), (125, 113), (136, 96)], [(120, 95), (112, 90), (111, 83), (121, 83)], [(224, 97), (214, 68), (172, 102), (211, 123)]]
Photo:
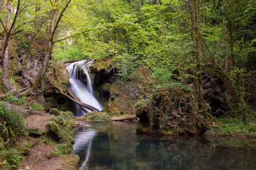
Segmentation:
[(199, 109), (197, 95), (186, 86), (173, 84), (156, 90), (137, 108), (138, 131), (202, 134), (210, 127), (211, 116)]

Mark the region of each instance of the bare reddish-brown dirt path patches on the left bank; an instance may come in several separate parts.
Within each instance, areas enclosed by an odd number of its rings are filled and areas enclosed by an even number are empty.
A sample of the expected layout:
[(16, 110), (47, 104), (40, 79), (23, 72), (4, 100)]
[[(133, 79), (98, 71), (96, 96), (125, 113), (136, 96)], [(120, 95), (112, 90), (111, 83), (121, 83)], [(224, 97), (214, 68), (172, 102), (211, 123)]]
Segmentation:
[[(54, 117), (49, 113), (40, 113), (28, 115), (26, 125), (28, 128), (38, 128), (41, 132), (45, 132), (45, 125), (49, 119)], [(20, 169), (76, 169), (78, 158), (76, 155), (68, 154), (61, 155), (57, 158), (52, 158), (51, 153), (55, 152), (56, 143), (44, 136), (40, 138), (23, 138), (22, 142), (31, 143), (32, 147), (26, 159), (20, 164)]]

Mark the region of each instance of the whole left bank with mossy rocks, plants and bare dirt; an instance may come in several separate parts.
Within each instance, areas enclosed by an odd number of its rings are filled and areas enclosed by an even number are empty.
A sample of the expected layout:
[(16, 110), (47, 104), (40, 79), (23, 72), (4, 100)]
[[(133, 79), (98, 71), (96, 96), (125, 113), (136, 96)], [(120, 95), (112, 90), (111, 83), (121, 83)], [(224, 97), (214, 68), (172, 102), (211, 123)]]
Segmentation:
[(3, 107), (13, 111), (11, 121), (17, 121), (15, 115), (19, 115), (24, 127), (16, 134), (14, 127), (4, 120), (7, 131), (13, 134), (1, 138), (0, 169), (77, 169), (79, 157), (73, 154), (74, 139), (70, 136), (70, 129), (77, 127), (73, 113), (57, 110), (50, 111), (56, 115), (43, 111), (20, 113), (17, 108), (26, 108), (3, 103)]

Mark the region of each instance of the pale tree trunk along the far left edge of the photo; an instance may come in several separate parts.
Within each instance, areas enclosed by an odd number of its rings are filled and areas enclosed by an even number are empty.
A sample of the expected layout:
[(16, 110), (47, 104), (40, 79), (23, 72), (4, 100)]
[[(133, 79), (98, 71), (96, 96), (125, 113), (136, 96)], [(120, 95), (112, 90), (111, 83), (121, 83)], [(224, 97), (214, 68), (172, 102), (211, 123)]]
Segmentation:
[[(8, 41), (10, 38), (10, 24), (11, 24), (11, 15), (12, 15), (12, 0), (7, 1), (6, 9), (6, 21), (5, 21), (5, 33), (6, 36), (3, 37), (3, 85), (6, 89), (15, 90), (15, 87), (11, 85), (8, 78), (8, 65), (9, 65), (9, 52), (8, 52)], [(14, 22), (14, 21), (13, 21)]]

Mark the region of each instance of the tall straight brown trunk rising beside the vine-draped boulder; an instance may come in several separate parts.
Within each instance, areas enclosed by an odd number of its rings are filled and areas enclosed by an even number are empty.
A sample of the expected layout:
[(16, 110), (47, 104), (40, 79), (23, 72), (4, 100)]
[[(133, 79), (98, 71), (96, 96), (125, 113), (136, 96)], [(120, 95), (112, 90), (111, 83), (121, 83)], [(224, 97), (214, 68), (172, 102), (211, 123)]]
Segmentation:
[(201, 63), (200, 63), (200, 37), (199, 37), (199, 24), (198, 24), (198, 7), (197, 0), (194, 0), (195, 3), (195, 61), (196, 61), (196, 91), (200, 99), (200, 106), (204, 100), (203, 88), (202, 88), (202, 74), (201, 74)]

